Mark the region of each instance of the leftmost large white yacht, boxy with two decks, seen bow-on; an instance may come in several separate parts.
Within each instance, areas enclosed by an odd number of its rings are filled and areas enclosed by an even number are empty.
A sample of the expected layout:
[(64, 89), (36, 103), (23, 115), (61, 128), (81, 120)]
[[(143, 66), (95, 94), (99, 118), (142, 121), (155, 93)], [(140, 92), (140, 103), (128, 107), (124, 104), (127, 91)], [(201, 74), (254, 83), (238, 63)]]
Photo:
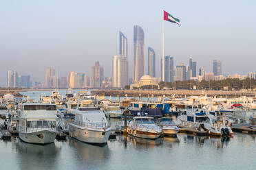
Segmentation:
[(54, 143), (57, 110), (55, 104), (26, 103), (18, 111), (19, 138), (26, 143)]

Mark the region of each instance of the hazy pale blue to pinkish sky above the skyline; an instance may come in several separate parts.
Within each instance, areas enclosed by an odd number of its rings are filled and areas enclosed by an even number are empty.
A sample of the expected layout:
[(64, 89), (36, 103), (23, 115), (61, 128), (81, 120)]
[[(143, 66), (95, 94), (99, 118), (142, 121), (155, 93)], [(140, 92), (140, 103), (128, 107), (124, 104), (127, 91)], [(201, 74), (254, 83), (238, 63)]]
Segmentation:
[(160, 76), (162, 10), (182, 24), (164, 22), (164, 53), (175, 64), (188, 64), (192, 56), (206, 72), (214, 59), (223, 61), (224, 74), (256, 72), (255, 9), (253, 0), (0, 0), (0, 86), (6, 86), (8, 69), (43, 82), (46, 66), (56, 66), (60, 76), (89, 75), (96, 60), (111, 76), (119, 31), (128, 39), (131, 77), (134, 25), (145, 32), (145, 61), (147, 47), (156, 51)]

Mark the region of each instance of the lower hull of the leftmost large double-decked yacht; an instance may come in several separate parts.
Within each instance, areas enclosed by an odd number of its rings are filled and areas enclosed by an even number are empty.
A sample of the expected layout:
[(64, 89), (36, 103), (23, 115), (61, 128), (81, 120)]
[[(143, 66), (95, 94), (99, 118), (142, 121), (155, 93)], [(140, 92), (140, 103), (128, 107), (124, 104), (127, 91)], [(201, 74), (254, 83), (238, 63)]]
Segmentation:
[(48, 143), (54, 143), (56, 138), (56, 132), (42, 130), (32, 133), (19, 132), (19, 138), (25, 143), (34, 143), (39, 145), (46, 145)]

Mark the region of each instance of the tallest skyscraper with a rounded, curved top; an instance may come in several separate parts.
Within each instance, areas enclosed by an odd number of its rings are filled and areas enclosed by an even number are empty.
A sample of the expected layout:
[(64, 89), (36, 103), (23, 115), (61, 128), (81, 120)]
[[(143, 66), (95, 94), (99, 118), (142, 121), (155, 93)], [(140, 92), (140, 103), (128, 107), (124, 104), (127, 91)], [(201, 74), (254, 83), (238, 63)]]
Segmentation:
[(134, 26), (134, 82), (140, 80), (140, 77), (144, 75), (144, 31), (142, 27)]

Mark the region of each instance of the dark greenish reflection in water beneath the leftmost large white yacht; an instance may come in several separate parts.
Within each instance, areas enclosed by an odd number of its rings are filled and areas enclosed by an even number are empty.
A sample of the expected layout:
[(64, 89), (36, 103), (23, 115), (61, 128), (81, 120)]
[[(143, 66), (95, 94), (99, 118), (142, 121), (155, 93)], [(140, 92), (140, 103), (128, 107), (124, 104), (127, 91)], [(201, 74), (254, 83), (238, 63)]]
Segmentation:
[(43, 146), (18, 140), (14, 145), (17, 148), (17, 160), (21, 169), (47, 169), (56, 166), (59, 151), (54, 143)]

